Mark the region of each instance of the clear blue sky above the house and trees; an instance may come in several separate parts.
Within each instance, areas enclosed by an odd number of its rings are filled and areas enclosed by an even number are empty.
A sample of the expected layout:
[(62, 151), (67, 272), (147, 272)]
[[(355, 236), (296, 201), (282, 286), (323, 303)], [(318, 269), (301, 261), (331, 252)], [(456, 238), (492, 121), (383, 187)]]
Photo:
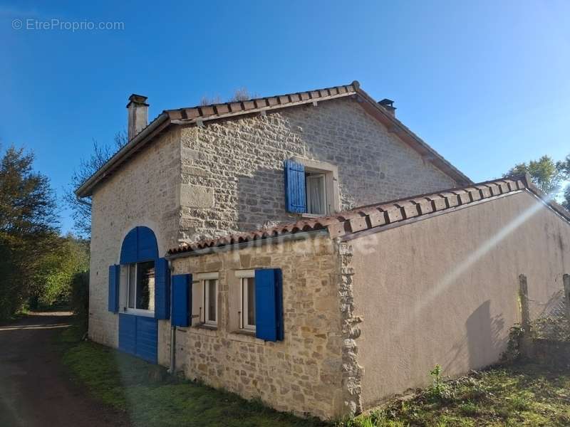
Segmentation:
[[(34, 29), (52, 19), (124, 29)], [(93, 139), (125, 130), (130, 93), (152, 118), (359, 80), (475, 181), (570, 152), (568, 1), (0, 1), (0, 55), (0, 142), (60, 196)]]

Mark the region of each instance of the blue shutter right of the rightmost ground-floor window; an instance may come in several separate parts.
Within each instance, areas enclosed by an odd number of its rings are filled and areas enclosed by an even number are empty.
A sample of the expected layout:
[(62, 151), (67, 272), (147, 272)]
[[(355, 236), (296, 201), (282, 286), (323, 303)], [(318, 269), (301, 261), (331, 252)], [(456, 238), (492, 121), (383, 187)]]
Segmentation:
[(279, 268), (255, 270), (255, 334), (265, 341), (282, 341), (283, 275)]

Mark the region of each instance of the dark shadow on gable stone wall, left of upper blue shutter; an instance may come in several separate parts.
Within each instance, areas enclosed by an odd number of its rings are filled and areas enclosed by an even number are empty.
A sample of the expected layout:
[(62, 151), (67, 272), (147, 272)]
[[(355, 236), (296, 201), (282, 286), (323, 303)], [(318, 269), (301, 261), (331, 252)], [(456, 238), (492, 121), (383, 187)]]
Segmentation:
[(242, 231), (295, 221), (285, 209), (283, 170), (261, 168), (252, 176), (238, 176), (237, 209), (238, 227)]

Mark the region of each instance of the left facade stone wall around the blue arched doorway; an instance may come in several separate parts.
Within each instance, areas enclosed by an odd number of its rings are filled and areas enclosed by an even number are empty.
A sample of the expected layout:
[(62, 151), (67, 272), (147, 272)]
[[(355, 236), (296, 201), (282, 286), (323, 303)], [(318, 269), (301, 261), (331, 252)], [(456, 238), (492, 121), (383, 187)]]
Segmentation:
[(94, 341), (118, 346), (118, 315), (107, 311), (108, 268), (119, 262), (128, 231), (135, 226), (151, 228), (161, 255), (176, 246), (179, 187), (180, 132), (173, 130), (139, 152), (95, 190), (89, 287), (89, 337)]

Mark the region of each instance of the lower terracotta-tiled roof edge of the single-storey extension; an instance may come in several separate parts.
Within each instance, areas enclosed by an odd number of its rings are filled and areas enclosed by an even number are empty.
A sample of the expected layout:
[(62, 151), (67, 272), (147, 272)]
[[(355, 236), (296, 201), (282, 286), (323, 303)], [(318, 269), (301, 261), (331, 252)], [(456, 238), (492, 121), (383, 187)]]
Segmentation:
[[(570, 221), (570, 212), (551, 201), (530, 181), (528, 175), (512, 176), (507, 179), (497, 179), (473, 184), (462, 188), (437, 191), (432, 194), (420, 194), (405, 199), (360, 206), (350, 211), (341, 212), (334, 216), (311, 218), (296, 223), (279, 224), (246, 233), (235, 233), (220, 238), (182, 244), (170, 249), (168, 255), (177, 255), (222, 248), (224, 246), (262, 241), (267, 238), (291, 235), (299, 232), (325, 230), (331, 238), (349, 240), (359, 234), (369, 231), (376, 232), (390, 226), (403, 225), (425, 216), (433, 216), (462, 206), (474, 205), (485, 199), (493, 199), (509, 193), (529, 190), (539, 196), (554, 211)], [(359, 233), (359, 234), (355, 234)]]

